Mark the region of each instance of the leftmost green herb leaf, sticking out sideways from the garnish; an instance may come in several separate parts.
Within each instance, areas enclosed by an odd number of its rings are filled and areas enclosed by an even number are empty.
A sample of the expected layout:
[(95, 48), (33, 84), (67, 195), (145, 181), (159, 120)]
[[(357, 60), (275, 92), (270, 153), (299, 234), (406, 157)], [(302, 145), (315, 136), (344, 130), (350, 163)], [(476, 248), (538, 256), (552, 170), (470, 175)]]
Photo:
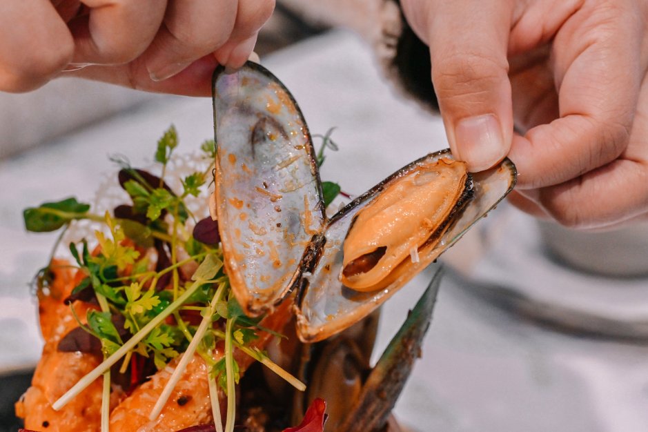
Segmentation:
[(58, 202), (46, 202), (38, 207), (23, 210), (25, 228), (34, 233), (48, 233), (75, 219), (87, 217), (90, 204), (67, 198)]

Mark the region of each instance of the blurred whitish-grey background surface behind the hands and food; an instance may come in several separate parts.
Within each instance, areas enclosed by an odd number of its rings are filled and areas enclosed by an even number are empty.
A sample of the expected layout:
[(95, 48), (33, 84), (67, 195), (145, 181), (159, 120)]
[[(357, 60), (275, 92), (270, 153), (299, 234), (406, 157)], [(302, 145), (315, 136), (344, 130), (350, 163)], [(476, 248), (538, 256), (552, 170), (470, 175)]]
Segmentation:
[[(335, 127), (340, 150), (328, 154), (322, 179), (359, 195), (447, 144), (440, 119), (384, 79), (372, 46), (334, 24), (279, 2), (257, 52), (293, 92), (313, 134)], [(21, 210), (69, 196), (92, 200), (115, 173), (110, 155), (150, 163), (170, 124), (179, 150), (195, 150), (213, 137), (210, 99), (75, 79), (0, 94), (0, 431), (15, 431), (12, 404), (39, 359), (29, 284), (56, 237), (27, 234)], [(648, 431), (647, 226), (573, 233), (502, 204), (440, 261), (433, 323), (395, 408), (406, 428)], [(433, 267), (384, 307), (378, 353)]]

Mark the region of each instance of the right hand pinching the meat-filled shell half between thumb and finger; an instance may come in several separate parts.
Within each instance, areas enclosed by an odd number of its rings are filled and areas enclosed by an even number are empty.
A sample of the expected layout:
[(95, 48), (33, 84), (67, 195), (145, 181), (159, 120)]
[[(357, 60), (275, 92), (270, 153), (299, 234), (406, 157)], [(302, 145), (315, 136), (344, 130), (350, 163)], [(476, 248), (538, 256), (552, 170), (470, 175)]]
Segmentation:
[(647, 3), (402, 0), (453, 153), (475, 171), (508, 155), (513, 204), (565, 226), (645, 218)]

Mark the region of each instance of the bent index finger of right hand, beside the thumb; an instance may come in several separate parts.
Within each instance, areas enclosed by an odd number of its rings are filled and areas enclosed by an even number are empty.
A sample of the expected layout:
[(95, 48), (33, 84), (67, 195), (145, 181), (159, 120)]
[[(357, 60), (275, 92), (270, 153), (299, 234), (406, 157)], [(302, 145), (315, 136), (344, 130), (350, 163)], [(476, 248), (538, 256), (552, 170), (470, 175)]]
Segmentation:
[(645, 71), (635, 17), (579, 10), (553, 42), (560, 117), (516, 137), (519, 188), (560, 184), (603, 166), (627, 146)]

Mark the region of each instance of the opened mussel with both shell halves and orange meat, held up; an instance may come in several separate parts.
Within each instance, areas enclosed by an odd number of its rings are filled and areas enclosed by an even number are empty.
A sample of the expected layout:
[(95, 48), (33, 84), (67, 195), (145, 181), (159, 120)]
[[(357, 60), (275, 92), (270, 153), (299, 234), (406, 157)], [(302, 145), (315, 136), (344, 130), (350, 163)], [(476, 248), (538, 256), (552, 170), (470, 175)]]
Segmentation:
[(467, 173), (449, 150), (426, 155), (326, 218), (302, 112), (255, 63), (214, 75), (216, 198), (226, 271), (246, 313), (296, 293), (305, 342), (369, 315), (513, 188), (505, 159)]

